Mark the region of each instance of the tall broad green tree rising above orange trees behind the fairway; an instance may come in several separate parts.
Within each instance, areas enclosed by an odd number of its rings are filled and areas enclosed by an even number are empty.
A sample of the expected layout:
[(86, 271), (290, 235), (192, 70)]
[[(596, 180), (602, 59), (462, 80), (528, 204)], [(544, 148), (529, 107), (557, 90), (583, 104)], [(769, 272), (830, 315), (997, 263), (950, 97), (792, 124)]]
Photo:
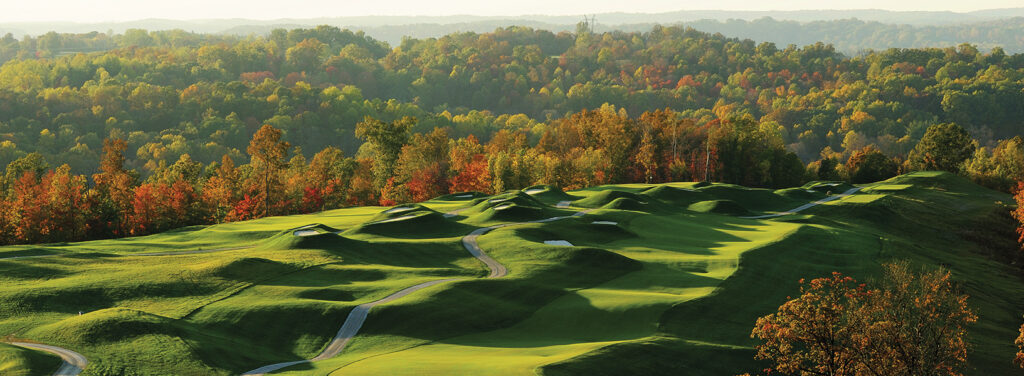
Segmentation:
[(394, 175), (401, 148), (409, 143), (416, 118), (404, 117), (393, 122), (366, 117), (355, 125), (355, 136), (372, 143), (377, 152), (374, 161), (374, 181), (383, 187), (387, 179)]

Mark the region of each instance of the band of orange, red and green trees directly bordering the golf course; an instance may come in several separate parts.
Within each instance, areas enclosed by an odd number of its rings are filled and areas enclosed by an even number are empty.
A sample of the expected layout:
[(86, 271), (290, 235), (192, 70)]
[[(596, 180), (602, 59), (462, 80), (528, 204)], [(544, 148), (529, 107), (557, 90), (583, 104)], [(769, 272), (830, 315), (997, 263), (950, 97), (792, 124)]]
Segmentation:
[[(672, 110), (631, 117), (605, 105), (539, 125), (537, 141), (527, 130), (502, 129), (480, 141), (472, 134), (455, 136), (451, 128), (415, 132), (418, 123), (414, 117), (366, 117), (354, 130), (364, 141), (356, 155), (329, 145), (308, 159), (284, 130), (264, 124), (248, 142), (248, 163), (224, 154), (204, 164), (183, 154), (147, 174), (128, 167), (128, 141), (117, 133), (103, 140), (91, 176), (68, 164), (51, 168), (41, 154), (28, 154), (4, 171), (0, 239), (16, 244), (137, 236), (538, 183), (571, 190), (707, 178), (786, 187), (817, 179), (874, 181), (910, 170), (970, 173), (974, 167), (965, 166), (974, 165), (1002, 176), (1024, 163), (979, 155), (977, 141), (955, 124), (930, 127), (905, 161), (869, 145), (845, 163), (830, 157), (805, 166), (786, 149), (777, 123), (749, 115), (701, 124)], [(1014, 153), (1020, 153), (1020, 140), (1015, 142)]]

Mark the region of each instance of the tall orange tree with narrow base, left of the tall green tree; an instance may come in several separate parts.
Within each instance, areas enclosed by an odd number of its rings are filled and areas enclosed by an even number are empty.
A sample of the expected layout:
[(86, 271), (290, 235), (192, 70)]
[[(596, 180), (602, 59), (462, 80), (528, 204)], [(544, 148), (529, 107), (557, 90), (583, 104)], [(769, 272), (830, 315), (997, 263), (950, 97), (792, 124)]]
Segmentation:
[(281, 190), (281, 172), (288, 166), (288, 150), (292, 148), (288, 141), (281, 140), (281, 129), (269, 124), (256, 131), (246, 152), (252, 159), (253, 168), (251, 189), (255, 189), (254, 200), (259, 216), (271, 214), (270, 201), (279, 199)]

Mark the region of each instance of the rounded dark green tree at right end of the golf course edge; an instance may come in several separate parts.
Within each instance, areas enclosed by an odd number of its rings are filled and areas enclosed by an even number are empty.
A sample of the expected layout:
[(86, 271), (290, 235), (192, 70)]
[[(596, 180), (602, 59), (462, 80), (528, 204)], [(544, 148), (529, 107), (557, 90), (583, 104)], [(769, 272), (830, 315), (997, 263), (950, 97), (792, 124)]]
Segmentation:
[(974, 155), (974, 139), (955, 123), (928, 127), (921, 142), (910, 151), (910, 167), (916, 170), (959, 172), (964, 161)]

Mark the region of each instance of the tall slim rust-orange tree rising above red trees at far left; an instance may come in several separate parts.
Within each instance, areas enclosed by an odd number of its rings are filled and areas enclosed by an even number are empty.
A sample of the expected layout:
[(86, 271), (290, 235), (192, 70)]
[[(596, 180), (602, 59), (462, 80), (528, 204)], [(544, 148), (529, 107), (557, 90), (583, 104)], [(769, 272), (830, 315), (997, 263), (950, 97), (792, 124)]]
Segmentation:
[[(95, 183), (95, 216), (92, 219), (99, 227), (111, 227), (115, 235), (128, 234), (129, 216), (135, 186), (135, 177), (125, 170), (125, 149), (128, 142), (122, 138), (103, 139), (103, 155), (99, 160), (99, 173), (92, 175)], [(99, 229), (99, 228), (96, 228)]]

